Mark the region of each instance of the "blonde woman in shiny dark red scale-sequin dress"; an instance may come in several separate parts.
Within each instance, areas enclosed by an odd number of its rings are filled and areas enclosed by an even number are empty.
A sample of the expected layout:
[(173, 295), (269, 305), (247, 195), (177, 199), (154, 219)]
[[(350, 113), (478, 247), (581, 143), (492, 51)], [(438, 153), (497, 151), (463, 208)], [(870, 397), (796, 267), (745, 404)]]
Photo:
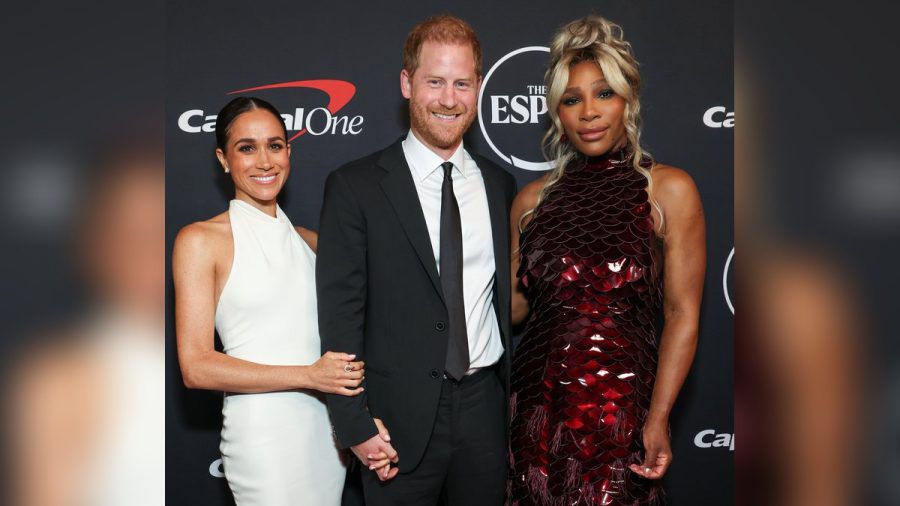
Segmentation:
[(668, 416), (697, 342), (700, 198), (686, 172), (641, 149), (640, 75), (618, 25), (573, 21), (550, 54), (545, 145), (557, 163), (511, 213), (513, 322), (527, 324), (509, 503), (658, 504)]

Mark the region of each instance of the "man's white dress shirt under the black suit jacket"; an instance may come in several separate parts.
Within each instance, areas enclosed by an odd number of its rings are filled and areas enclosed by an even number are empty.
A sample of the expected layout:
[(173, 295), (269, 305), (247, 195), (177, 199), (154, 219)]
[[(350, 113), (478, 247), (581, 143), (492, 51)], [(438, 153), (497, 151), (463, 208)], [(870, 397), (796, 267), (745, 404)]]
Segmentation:
[(469, 338), (469, 371), (494, 365), (503, 355), (500, 326), (494, 311), (494, 238), (484, 178), (462, 143), (444, 160), (420, 141), (412, 130), (403, 141), (403, 153), (412, 171), (425, 224), (431, 237), (434, 261), (440, 272), (441, 258), (441, 164), (453, 163), (453, 193), (459, 205), (463, 242), (463, 302)]

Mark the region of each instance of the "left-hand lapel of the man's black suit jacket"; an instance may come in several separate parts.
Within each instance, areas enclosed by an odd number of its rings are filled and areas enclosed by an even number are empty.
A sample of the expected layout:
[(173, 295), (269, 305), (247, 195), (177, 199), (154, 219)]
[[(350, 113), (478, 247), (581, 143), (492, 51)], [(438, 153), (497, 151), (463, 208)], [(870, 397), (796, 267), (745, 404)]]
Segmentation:
[(428, 225), (425, 224), (425, 214), (422, 211), (422, 204), (419, 202), (419, 194), (416, 191), (412, 173), (406, 163), (406, 156), (403, 154), (401, 141), (395, 142), (381, 153), (378, 165), (388, 172), (381, 180), (381, 189), (393, 206), (397, 219), (406, 232), (407, 239), (415, 249), (431, 283), (443, 300), (444, 294), (435, 265), (434, 250), (431, 248)]

